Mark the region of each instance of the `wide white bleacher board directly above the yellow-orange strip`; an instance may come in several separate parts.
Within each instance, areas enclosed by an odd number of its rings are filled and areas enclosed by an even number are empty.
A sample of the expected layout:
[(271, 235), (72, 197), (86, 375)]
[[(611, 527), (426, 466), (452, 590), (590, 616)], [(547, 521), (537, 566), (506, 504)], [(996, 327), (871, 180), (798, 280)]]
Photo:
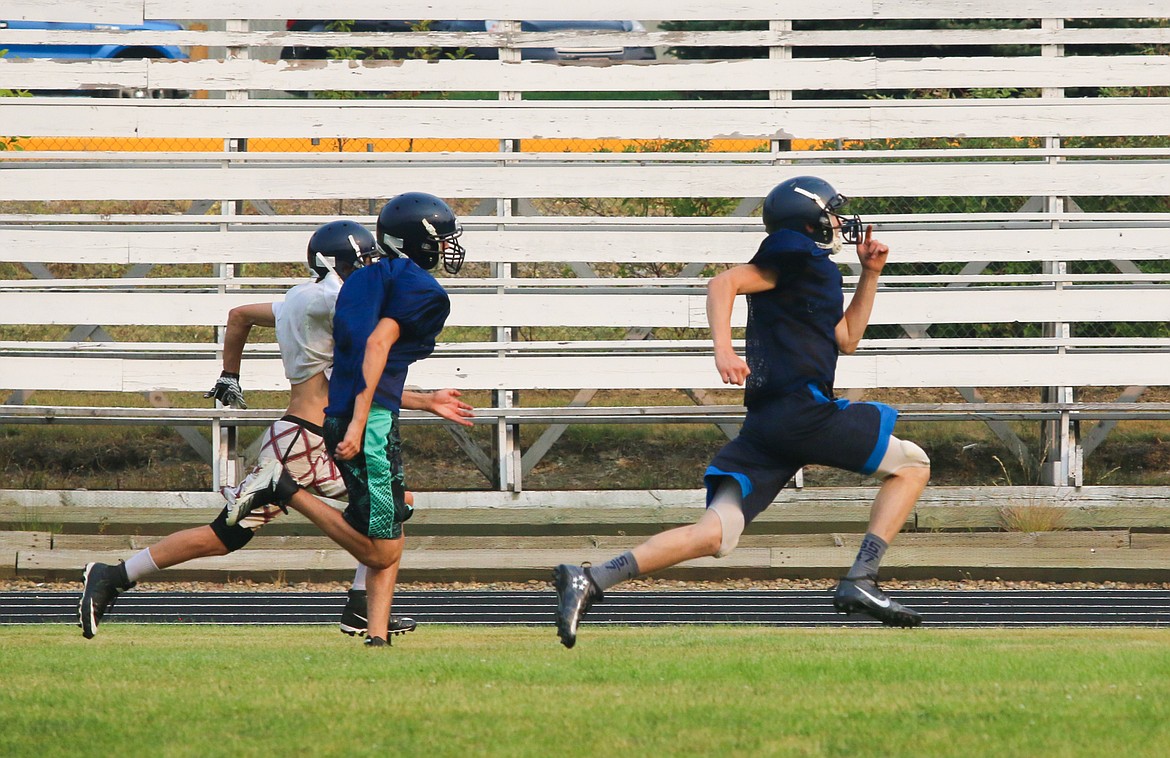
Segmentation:
[(1159, 136), (1170, 98), (572, 103), (78, 101), (4, 103), (30, 137), (878, 139)]

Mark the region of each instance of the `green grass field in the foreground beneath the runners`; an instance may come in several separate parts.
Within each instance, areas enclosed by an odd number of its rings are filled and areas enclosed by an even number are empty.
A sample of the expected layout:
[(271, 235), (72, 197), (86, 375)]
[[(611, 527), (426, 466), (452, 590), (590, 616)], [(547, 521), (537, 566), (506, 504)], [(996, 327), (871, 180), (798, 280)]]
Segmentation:
[(1166, 629), (0, 627), (4, 756), (1164, 756)]

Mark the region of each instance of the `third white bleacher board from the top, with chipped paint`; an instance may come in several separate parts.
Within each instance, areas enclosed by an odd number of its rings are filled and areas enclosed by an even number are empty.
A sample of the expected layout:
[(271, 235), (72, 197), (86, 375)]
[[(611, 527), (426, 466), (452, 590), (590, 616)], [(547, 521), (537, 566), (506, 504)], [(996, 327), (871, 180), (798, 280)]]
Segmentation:
[(1108, 57), (768, 58), (702, 62), (54, 61), (0, 58), (12, 89), (661, 91), (1164, 87), (1170, 61)]

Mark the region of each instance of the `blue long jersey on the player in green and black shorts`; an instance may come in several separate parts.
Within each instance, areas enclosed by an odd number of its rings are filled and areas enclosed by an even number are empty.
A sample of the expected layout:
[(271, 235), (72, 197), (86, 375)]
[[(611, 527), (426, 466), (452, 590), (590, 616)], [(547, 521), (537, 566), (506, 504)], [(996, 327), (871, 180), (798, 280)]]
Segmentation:
[(333, 374), (325, 413), (352, 415), (353, 400), (366, 386), (362, 377), (366, 340), (383, 318), (398, 322), (401, 333), (390, 349), (373, 399), (399, 411), (407, 367), (434, 351), (448, 313), (450, 299), (442, 285), (407, 257), (381, 259), (351, 274), (333, 313)]

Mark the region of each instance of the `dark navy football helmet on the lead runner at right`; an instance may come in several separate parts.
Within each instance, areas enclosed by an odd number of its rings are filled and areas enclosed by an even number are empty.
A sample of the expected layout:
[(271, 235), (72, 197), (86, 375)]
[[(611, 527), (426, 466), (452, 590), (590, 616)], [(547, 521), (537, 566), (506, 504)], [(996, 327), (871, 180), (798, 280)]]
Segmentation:
[[(764, 198), (764, 228), (792, 229), (820, 247), (833, 243), (833, 221), (841, 222), (841, 240), (848, 244), (861, 241), (861, 219), (840, 213), (848, 198), (833, 185), (817, 177), (794, 177), (776, 185)], [(808, 230), (812, 227), (812, 232)]]

